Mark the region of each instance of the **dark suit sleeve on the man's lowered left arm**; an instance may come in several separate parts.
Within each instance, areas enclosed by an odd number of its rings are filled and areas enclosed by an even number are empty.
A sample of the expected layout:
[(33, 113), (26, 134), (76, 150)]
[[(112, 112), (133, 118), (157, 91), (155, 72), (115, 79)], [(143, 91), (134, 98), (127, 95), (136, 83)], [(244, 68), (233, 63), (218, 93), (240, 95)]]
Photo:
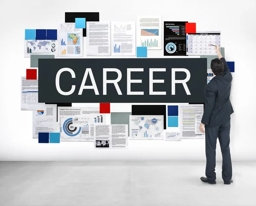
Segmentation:
[(204, 115), (201, 120), (204, 125), (209, 125), (209, 119), (215, 104), (216, 92), (209, 84), (205, 87)]

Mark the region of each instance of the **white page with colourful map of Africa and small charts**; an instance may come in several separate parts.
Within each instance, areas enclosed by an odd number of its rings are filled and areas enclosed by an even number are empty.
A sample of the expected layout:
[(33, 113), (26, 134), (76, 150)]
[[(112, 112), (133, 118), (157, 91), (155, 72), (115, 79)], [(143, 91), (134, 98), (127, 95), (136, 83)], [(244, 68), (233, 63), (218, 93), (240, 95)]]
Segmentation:
[(75, 23), (61, 23), (58, 32), (58, 56), (83, 56), (83, 29), (76, 29)]

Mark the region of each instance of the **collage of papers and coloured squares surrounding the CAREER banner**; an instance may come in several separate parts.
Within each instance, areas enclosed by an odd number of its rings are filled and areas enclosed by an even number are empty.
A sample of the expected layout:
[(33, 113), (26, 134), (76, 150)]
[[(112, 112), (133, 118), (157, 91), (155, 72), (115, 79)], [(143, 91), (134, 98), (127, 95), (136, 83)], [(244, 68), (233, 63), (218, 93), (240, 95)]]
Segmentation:
[[(94, 142), (96, 149), (128, 148), (129, 140), (136, 139), (204, 139), (198, 129), (203, 102), (132, 104), (131, 112), (111, 112), (110, 103), (99, 103), (99, 107), (39, 103), (36, 68), (38, 59), (81, 58), (85, 51), (86, 56), (146, 58), (148, 50), (163, 49), (164, 56), (207, 58), (208, 83), (213, 78), (210, 62), (217, 58), (212, 45), (221, 45), (220, 31), (197, 32), (196, 23), (162, 22), (161, 15), (140, 16), (137, 22), (108, 22), (99, 20), (99, 12), (65, 12), (64, 21), (58, 29), (25, 29), (24, 57), (30, 58), (30, 67), (35, 69), (27, 69), (21, 77), (21, 110), (33, 112), (33, 139), (38, 143)], [(228, 64), (234, 72), (234, 62)]]

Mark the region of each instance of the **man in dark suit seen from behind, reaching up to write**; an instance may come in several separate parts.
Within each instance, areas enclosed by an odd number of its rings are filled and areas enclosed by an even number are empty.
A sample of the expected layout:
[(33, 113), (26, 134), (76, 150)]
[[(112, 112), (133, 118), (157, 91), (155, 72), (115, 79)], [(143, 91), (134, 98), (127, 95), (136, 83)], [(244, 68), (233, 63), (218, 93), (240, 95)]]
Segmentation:
[(217, 138), (222, 154), (222, 179), (224, 184), (233, 182), (232, 163), (230, 157), (230, 115), (234, 112), (230, 102), (232, 75), (220, 47), (215, 46), (218, 58), (211, 62), (215, 77), (205, 86), (204, 115), (199, 127), (205, 133), (206, 177), (201, 177), (205, 183), (216, 183), (216, 144)]

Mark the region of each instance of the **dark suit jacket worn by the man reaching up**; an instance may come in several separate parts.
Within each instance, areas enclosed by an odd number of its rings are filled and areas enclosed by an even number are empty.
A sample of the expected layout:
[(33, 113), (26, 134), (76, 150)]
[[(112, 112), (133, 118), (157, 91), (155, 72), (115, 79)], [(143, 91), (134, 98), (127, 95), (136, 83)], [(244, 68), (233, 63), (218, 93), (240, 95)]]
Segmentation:
[(230, 102), (230, 90), (232, 75), (225, 58), (221, 58), (224, 64), (223, 75), (216, 75), (205, 86), (204, 115), (201, 122), (208, 128), (223, 125), (230, 120), (234, 112)]

